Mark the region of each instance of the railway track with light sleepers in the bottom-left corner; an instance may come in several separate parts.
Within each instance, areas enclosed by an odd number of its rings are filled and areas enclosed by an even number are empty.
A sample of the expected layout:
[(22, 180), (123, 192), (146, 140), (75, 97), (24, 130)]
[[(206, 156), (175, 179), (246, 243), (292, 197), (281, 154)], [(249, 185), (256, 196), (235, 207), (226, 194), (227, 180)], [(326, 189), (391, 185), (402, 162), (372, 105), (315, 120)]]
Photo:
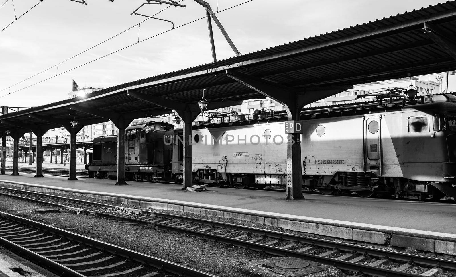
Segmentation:
[(215, 277), (169, 262), (0, 212), (0, 243), (62, 277)]

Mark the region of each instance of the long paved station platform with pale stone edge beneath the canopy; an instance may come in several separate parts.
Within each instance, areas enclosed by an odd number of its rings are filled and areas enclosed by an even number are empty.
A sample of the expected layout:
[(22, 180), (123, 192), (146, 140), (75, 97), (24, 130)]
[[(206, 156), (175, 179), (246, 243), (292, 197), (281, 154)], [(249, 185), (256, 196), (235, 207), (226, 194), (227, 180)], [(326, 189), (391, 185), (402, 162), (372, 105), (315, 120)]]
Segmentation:
[(306, 200), (286, 201), (284, 192), (275, 191), (209, 187), (193, 193), (181, 191), (181, 185), (127, 182), (129, 185), (116, 186), (116, 180), (68, 181), (66, 176), (33, 178), (33, 174), (21, 174), (2, 175), (0, 184), (109, 197), (136, 206), (232, 217), (320, 236), (456, 253), (456, 204), (310, 194), (305, 195)]

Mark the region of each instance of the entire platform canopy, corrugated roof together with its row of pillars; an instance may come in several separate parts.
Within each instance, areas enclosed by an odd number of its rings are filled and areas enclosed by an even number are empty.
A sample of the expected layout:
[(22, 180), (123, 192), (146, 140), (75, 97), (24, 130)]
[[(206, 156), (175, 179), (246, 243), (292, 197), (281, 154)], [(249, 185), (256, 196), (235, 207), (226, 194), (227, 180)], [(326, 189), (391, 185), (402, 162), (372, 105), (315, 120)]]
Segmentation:
[[(135, 119), (175, 111), (183, 123), (183, 187), (192, 183), (192, 121), (207, 107), (229, 107), (245, 99), (270, 97), (289, 121), (316, 100), (353, 84), (451, 71), (456, 67), (456, 1), (430, 6), (332, 31), (223, 61), (119, 84), (85, 97), (0, 116), (0, 132), (14, 139), (37, 136), (36, 176), (41, 174), (42, 141), (47, 130), (70, 133), (69, 180), (76, 180), (76, 134), (83, 126), (109, 119), (118, 129), (117, 178), (124, 185), (125, 128)], [(204, 95), (203, 95), (204, 93)], [(285, 126), (284, 126), (285, 133)], [(286, 199), (302, 198), (300, 134), (289, 132)], [(5, 145), (3, 145), (5, 146)], [(5, 174), (5, 152), (2, 159)]]

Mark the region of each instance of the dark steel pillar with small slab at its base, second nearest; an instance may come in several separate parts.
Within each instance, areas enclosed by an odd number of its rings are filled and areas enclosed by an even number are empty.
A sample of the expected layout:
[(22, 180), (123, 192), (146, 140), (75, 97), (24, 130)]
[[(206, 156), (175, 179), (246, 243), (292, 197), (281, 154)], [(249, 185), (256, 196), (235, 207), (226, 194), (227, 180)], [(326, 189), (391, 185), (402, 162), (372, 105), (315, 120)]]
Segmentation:
[(192, 139), (192, 122), (197, 118), (200, 112), (187, 112), (175, 110), (179, 118), (181, 118), (182, 123), (184, 124), (183, 128), (183, 137), (184, 137), (184, 169), (182, 176), (182, 190), (186, 190), (188, 187), (192, 186), (192, 144), (190, 144)]

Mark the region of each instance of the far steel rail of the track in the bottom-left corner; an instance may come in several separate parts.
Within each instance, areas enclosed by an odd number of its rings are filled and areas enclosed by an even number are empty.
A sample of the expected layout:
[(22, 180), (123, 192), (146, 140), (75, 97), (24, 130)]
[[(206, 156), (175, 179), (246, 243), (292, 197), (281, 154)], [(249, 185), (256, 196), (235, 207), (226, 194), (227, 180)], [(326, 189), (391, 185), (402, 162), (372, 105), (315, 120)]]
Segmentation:
[[(182, 265), (174, 263), (174, 262), (169, 262), (169, 261), (166, 261), (166, 260), (154, 257), (154, 256), (150, 256), (150, 255), (147, 255), (144, 253), (140, 253), (140, 252), (128, 249), (128, 248), (116, 246), (116, 245), (110, 244), (108, 242), (99, 241), (97, 239), (93, 239), (93, 238), (90, 238), (87, 236), (79, 235), (79, 234), (76, 234), (76, 233), (73, 233), (70, 231), (65, 231), (60, 228), (49, 226), (49, 225), (43, 224), (41, 222), (32, 221), (30, 219), (26, 219), (26, 218), (23, 218), (23, 217), (20, 217), (17, 215), (11, 215), (11, 214), (0, 211), (0, 217), (9, 219), (11, 221), (19, 222), (23, 225), (33, 226), (37, 229), (41, 229), (43, 231), (47, 231), (47, 232), (53, 233), (57, 236), (61, 236), (61, 237), (64, 237), (64, 238), (67, 238), (70, 240), (81, 242), (86, 245), (91, 245), (99, 250), (115, 253), (119, 256), (131, 259), (135, 262), (139, 262), (139, 263), (143, 263), (143, 264), (147, 263), (148, 265), (150, 265), (152, 267), (161, 268), (167, 272), (170, 272), (170, 273), (173, 273), (176, 275), (181, 274), (181, 275), (185, 275), (188, 277), (217, 277), (215, 275), (212, 275), (212, 274), (209, 274), (206, 272), (202, 272), (202, 271), (190, 268), (190, 267), (185, 267), (185, 266), (182, 266)], [(78, 275), (78, 276), (81, 276), (81, 275)]]

